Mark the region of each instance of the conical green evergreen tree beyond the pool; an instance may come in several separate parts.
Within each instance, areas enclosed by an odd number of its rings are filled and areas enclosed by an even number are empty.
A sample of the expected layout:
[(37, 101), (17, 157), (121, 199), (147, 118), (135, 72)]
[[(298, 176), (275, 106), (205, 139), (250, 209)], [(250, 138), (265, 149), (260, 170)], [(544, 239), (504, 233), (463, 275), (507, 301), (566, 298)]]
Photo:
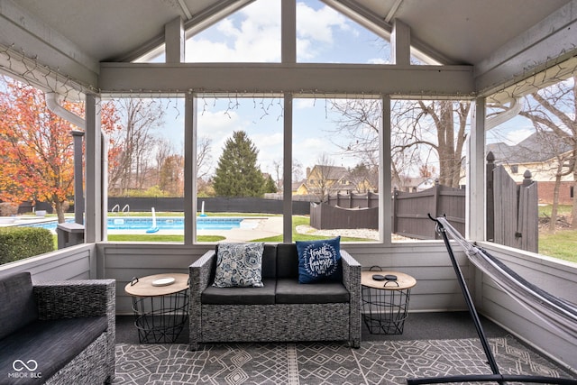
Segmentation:
[(235, 131), (224, 143), (215, 171), (218, 197), (261, 197), (265, 180), (256, 164), (259, 151), (247, 134)]

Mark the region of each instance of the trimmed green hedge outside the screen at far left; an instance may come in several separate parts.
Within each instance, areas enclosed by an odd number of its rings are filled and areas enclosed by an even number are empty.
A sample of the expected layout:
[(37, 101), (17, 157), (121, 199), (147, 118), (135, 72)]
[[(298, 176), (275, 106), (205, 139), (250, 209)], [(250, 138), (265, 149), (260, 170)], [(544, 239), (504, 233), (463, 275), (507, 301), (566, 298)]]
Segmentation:
[(50, 230), (40, 227), (0, 227), (0, 264), (54, 251)]

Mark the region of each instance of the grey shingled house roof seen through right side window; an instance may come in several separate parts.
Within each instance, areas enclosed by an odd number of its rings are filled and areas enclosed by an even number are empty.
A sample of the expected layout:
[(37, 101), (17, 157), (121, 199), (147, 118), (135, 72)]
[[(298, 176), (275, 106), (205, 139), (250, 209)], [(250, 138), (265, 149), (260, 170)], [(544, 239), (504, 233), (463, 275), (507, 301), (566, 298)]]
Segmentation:
[(572, 146), (548, 131), (533, 133), (513, 146), (503, 142), (490, 143), (487, 150), (493, 153), (496, 163), (523, 164), (551, 160), (558, 154), (571, 151)]

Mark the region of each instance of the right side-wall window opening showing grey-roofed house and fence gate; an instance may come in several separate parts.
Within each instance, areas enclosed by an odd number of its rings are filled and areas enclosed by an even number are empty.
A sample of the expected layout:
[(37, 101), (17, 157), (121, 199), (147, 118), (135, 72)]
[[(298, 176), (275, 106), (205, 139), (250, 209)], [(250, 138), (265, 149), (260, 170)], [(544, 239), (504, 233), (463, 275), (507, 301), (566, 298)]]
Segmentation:
[(532, 81), (518, 87), (533, 90), (528, 94), (488, 98), (487, 238), (574, 261), (575, 76), (527, 87)]

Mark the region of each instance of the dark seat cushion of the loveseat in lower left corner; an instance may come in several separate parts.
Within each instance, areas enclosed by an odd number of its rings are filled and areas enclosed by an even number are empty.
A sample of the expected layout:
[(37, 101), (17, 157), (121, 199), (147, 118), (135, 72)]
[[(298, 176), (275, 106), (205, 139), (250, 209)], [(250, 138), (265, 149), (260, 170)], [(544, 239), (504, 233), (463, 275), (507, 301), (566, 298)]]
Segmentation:
[[(105, 316), (36, 321), (0, 340), (3, 384), (36, 384), (48, 380), (92, 344), (108, 327)], [(20, 360), (21, 362), (16, 362)], [(30, 360), (33, 360), (31, 362)], [(16, 363), (14, 363), (16, 362)], [(23, 367), (26, 363), (32, 371)], [(14, 370), (22, 369), (22, 371)], [(38, 365), (35, 367), (35, 365)], [(18, 378), (9, 373), (24, 373)], [(32, 373), (41, 378), (31, 378)], [(23, 375), (23, 374), (21, 374)]]

